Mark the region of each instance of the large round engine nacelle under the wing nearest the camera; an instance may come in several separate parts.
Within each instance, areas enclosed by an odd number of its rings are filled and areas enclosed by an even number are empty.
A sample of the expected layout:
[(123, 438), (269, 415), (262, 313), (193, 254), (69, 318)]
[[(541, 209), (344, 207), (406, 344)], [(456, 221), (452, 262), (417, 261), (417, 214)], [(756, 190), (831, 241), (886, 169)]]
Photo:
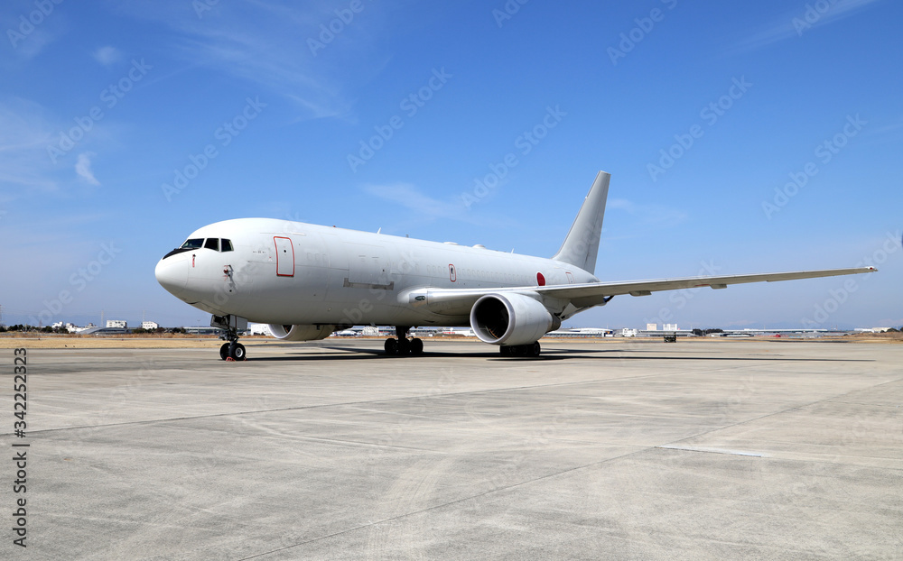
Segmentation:
[(470, 327), (483, 343), (527, 345), (562, 325), (543, 304), (524, 294), (487, 294), (470, 308)]

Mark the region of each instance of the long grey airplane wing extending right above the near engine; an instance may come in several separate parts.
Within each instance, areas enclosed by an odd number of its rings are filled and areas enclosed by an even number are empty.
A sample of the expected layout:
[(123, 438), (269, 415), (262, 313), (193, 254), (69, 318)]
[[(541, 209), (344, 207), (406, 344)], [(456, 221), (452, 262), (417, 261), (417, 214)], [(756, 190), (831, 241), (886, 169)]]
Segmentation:
[(724, 275), (719, 277), (685, 277), (682, 279), (656, 279), (647, 281), (591, 282), (585, 284), (558, 284), (554, 286), (525, 286), (481, 289), (419, 289), (409, 293), (409, 301), (414, 305), (426, 305), (436, 311), (452, 311), (472, 306), (481, 296), (505, 292), (534, 292), (544, 297), (566, 299), (577, 308), (588, 308), (604, 304), (612, 296), (629, 294), (648, 296), (661, 290), (694, 289), (710, 287), (724, 289), (730, 284), (747, 282), (795, 281), (838, 275), (858, 274), (878, 271), (874, 267), (852, 269), (823, 269), (820, 271), (763, 272), (745, 275)]

